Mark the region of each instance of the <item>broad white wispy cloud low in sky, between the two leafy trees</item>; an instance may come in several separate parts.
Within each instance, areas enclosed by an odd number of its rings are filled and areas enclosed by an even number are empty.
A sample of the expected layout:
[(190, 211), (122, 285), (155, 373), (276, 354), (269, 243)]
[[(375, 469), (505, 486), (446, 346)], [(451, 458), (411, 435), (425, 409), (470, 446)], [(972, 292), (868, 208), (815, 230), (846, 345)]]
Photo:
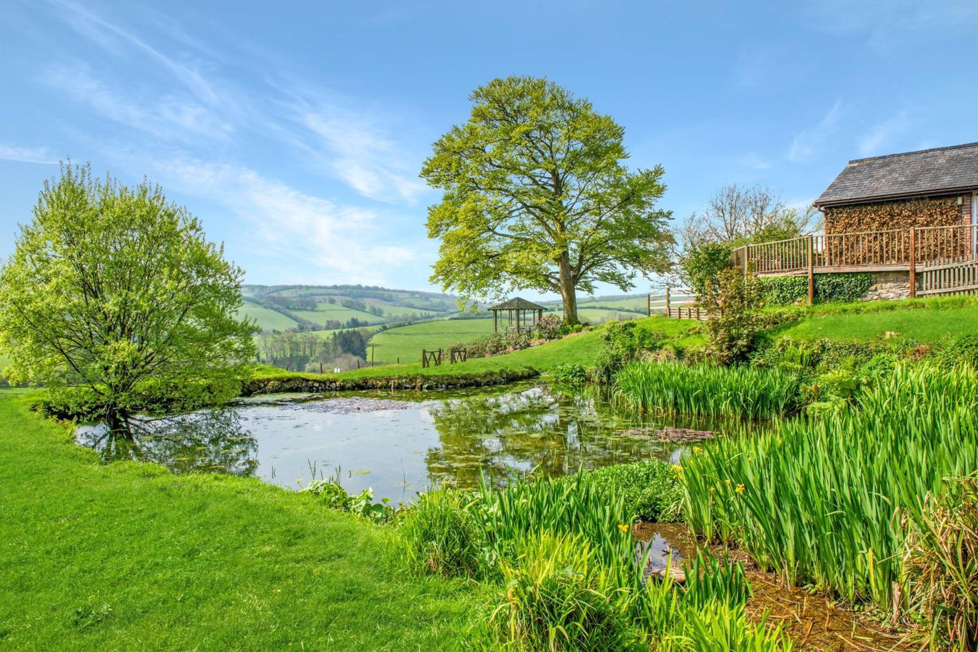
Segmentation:
[(383, 283), (386, 271), (416, 258), (410, 247), (382, 244), (378, 214), (342, 206), (243, 166), (177, 156), (147, 161), (160, 181), (217, 201), (247, 224), (252, 254), (333, 282)]

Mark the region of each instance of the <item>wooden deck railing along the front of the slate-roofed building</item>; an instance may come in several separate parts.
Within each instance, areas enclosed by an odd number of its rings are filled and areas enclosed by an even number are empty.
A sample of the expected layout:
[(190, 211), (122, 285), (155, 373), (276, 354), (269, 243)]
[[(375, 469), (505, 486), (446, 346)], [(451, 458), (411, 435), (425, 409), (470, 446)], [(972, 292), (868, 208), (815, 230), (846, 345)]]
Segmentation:
[(747, 245), (733, 262), (758, 276), (907, 271), (911, 297), (978, 291), (978, 225), (808, 235)]

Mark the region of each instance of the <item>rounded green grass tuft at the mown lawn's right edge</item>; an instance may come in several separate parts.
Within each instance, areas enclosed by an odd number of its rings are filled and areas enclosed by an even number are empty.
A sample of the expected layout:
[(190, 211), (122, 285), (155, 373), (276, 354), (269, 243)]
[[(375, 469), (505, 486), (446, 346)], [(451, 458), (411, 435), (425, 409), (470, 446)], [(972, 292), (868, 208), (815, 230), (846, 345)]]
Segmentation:
[(420, 573), (480, 578), (484, 537), (467, 492), (438, 489), (406, 509), (399, 541), (409, 568)]

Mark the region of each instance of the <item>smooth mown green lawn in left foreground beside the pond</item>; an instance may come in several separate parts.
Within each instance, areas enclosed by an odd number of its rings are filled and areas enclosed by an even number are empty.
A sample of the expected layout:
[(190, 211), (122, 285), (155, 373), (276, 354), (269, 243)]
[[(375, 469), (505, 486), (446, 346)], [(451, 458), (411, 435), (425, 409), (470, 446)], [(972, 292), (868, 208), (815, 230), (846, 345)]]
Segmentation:
[(0, 390), (0, 646), (458, 649), (477, 600), (389, 529), (255, 478), (99, 464)]

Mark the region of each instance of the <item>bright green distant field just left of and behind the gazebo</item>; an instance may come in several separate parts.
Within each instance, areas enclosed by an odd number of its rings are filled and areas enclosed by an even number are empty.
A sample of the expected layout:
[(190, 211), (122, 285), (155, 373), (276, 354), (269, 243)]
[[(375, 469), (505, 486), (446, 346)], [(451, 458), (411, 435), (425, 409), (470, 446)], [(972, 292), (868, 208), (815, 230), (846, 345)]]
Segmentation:
[(421, 360), (422, 348), (448, 348), (492, 333), (492, 319), (438, 319), (399, 326), (379, 332), (371, 339), (377, 362)]

